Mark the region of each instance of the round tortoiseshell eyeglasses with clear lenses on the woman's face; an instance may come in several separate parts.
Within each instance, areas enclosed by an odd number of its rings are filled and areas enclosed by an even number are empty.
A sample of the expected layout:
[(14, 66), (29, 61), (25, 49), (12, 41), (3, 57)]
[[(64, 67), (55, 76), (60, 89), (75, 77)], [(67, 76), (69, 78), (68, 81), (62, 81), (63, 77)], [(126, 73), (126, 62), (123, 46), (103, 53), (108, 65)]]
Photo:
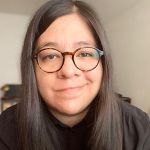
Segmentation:
[(72, 56), (73, 63), (79, 70), (91, 71), (97, 67), (104, 52), (93, 47), (81, 47), (74, 52), (60, 52), (55, 48), (44, 48), (39, 50), (33, 58), (41, 70), (53, 73), (62, 68), (65, 55)]

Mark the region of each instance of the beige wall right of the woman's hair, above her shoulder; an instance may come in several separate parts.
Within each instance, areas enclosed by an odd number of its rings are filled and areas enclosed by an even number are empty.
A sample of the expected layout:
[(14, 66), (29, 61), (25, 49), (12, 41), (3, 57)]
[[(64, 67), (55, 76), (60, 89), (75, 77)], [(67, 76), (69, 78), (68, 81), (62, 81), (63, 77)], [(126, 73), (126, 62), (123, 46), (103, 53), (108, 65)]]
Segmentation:
[(150, 1), (105, 24), (112, 49), (116, 91), (150, 114)]

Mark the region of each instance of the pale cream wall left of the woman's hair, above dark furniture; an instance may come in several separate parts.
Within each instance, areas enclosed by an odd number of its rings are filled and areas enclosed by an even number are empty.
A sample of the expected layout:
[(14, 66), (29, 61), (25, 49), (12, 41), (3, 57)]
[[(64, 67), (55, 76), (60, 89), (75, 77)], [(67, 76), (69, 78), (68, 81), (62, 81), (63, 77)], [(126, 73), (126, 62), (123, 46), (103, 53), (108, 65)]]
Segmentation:
[(20, 54), (29, 16), (0, 13), (0, 87), (20, 83)]

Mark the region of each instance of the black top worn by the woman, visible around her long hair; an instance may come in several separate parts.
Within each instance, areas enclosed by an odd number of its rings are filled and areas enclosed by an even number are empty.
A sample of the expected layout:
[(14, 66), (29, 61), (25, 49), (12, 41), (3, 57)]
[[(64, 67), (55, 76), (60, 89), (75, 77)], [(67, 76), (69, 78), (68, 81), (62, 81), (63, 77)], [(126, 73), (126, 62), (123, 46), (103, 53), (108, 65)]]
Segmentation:
[[(0, 116), (0, 150), (17, 150), (16, 107)], [(123, 150), (150, 150), (150, 120), (146, 113), (127, 103), (122, 103)], [(86, 119), (70, 128), (50, 115), (57, 127), (65, 150), (86, 150)]]

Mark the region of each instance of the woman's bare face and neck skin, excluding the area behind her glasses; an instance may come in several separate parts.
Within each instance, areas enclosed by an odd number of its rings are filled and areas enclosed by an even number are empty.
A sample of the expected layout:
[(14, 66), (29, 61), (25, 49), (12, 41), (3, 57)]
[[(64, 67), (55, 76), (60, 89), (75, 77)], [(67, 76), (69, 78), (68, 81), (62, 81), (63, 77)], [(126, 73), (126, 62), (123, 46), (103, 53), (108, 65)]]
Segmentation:
[[(53, 47), (73, 52), (83, 46), (96, 47), (96, 42), (84, 19), (76, 13), (56, 19), (37, 40), (38, 49)], [(100, 89), (101, 62), (88, 72), (77, 69), (70, 55), (65, 56), (63, 67), (55, 73), (35, 66), (39, 92), (51, 113), (70, 127), (79, 123)]]

